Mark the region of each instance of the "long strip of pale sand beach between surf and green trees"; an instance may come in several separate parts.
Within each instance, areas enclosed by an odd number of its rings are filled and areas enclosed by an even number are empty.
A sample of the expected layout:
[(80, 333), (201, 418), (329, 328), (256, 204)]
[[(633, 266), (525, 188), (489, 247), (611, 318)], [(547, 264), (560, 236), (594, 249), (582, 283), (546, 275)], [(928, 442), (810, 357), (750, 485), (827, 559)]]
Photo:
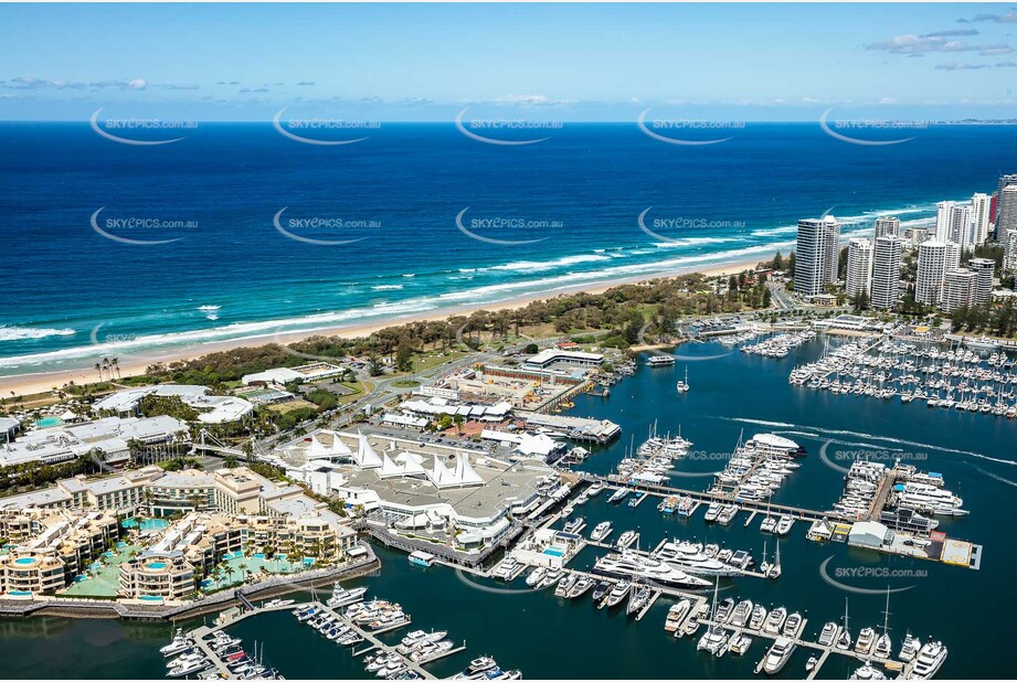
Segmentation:
[[(352, 339), (357, 337), (368, 337), (372, 333), (375, 333), (382, 329), (390, 327), (400, 327), (402, 324), (407, 324), (411, 322), (433, 322), (438, 320), (445, 320), (455, 316), (468, 316), (479, 310), (488, 310), (490, 312), (504, 311), (504, 310), (515, 310), (528, 306), (533, 301), (539, 300), (549, 300), (558, 296), (566, 296), (573, 294), (603, 294), (604, 291), (612, 289), (614, 287), (632, 284), (642, 284), (646, 281), (653, 281), (656, 279), (667, 279), (669, 277), (678, 277), (682, 275), (702, 275), (703, 277), (723, 277), (737, 273), (741, 273), (745, 269), (754, 268), (761, 260), (765, 260), (765, 257), (758, 257), (751, 260), (739, 259), (731, 260), (723, 264), (717, 264), (713, 266), (698, 268), (680, 268), (672, 273), (660, 273), (651, 277), (640, 276), (640, 277), (631, 277), (623, 279), (614, 279), (610, 281), (601, 283), (587, 283), (584, 285), (574, 285), (562, 287), (560, 289), (554, 289), (552, 291), (539, 292), (539, 294), (528, 294), (523, 296), (518, 296), (515, 298), (506, 299), (502, 301), (497, 301), (492, 303), (463, 303), (459, 306), (453, 306), (449, 308), (444, 308), (441, 310), (422, 312), (422, 313), (409, 313), (403, 316), (395, 316), (388, 318), (385, 320), (379, 320), (377, 322), (369, 323), (351, 323), (339, 327), (322, 327), (320, 329), (307, 330), (307, 331), (294, 331), (294, 332), (284, 332), (275, 334), (265, 334), (262, 337), (248, 337), (246, 339), (230, 339), (225, 341), (211, 341), (209, 343), (203, 343), (198, 347), (184, 347), (177, 351), (170, 351), (165, 353), (150, 352), (146, 355), (138, 356), (128, 356), (128, 362), (121, 363), (119, 365), (119, 377), (126, 379), (130, 376), (137, 376), (144, 374), (149, 365), (155, 363), (170, 363), (177, 361), (190, 361), (197, 360), (203, 355), (210, 353), (218, 353), (222, 351), (229, 351), (237, 348), (258, 348), (263, 345), (268, 345), (271, 343), (293, 343), (296, 341), (303, 341), (311, 337), (340, 337), (346, 339)], [(96, 359), (93, 359), (93, 362)], [(89, 362), (89, 365), (92, 362)], [(71, 382), (82, 385), (87, 383), (96, 383), (97, 379), (95, 371), (91, 366), (81, 366), (73, 367), (67, 370), (50, 371), (50, 372), (31, 372), (25, 374), (11, 374), (8, 376), (0, 376), (0, 396), (10, 396), (11, 393), (20, 396), (33, 395), (39, 393), (46, 393), (52, 391), (54, 387), (60, 388), (65, 384)]]

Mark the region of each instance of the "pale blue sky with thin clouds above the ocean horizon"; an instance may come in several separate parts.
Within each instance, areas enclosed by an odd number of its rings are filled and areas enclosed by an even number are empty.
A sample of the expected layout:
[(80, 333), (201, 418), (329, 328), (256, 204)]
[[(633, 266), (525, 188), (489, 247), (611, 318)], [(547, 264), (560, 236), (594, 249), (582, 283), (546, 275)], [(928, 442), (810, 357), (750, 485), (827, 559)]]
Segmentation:
[(1014, 117), (998, 4), (3, 4), (0, 119)]

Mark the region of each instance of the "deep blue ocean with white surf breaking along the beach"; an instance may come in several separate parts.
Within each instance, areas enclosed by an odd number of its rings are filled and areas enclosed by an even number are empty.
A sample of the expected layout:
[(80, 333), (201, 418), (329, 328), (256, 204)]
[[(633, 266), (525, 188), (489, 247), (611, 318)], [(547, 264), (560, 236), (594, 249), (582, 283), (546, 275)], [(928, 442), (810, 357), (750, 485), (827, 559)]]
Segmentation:
[(271, 124), (177, 132), (135, 146), (87, 122), (0, 125), (0, 375), (763, 259), (801, 217), (830, 212), (846, 236), (884, 214), (928, 225), (936, 201), (1017, 170), (1013, 126), (887, 146), (817, 124), (703, 146), (635, 124), (519, 146), (451, 124), (335, 146)]

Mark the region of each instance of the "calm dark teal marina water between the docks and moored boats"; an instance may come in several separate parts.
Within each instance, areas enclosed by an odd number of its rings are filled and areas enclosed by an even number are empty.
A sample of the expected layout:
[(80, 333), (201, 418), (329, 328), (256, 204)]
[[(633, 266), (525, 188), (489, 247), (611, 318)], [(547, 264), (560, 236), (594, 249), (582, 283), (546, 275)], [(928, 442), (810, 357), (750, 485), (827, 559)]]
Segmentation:
[[(831, 344), (839, 341), (834, 339)], [(818, 456), (827, 440), (830, 460), (849, 466), (844, 454), (861, 450), (871, 457), (910, 458), (920, 468), (941, 471), (950, 489), (958, 492), (971, 514), (944, 520), (947, 535), (984, 544), (981, 571), (933, 562), (889, 557), (849, 548), (844, 544), (817, 544), (805, 539), (806, 525), (795, 524), (781, 540), (783, 575), (777, 580), (723, 578), (722, 596), (750, 598), (801, 610), (808, 618), (805, 632), (815, 637), (823, 622), (844, 614), (850, 600), (850, 627), (857, 635), (865, 626), (881, 626), (884, 595), (841, 592), (827, 584), (819, 567), (828, 558), (827, 574), (864, 589), (902, 589), (890, 597), (890, 628), (894, 654), (905, 630), (934, 636), (950, 648), (941, 678), (1006, 678), (1017, 672), (1006, 647), (997, 646), (1017, 633), (1007, 617), (1014, 604), (1010, 567), (1017, 561), (1011, 540), (1013, 514), (1005, 505), (1017, 479), (1014, 438), (1017, 425), (1006, 419), (932, 411), (914, 403), (836, 396), (786, 383), (796, 363), (822, 352), (813, 342), (784, 360), (729, 353), (717, 343), (679, 348), (678, 363), (669, 369), (640, 367), (619, 383), (607, 399), (582, 397), (575, 414), (607, 417), (624, 427), (623, 439), (596, 451), (585, 468), (607, 472), (634, 438), (638, 445), (656, 422), (660, 431), (675, 433), (695, 443), (695, 451), (730, 452), (742, 431), (744, 437), (774, 430), (808, 448), (774, 501), (829, 509), (840, 494), (843, 475)], [(720, 355), (720, 356), (718, 356)], [(675, 382), (689, 367), (692, 391), (678, 395)], [(922, 458), (925, 459), (922, 459)], [(722, 460), (685, 460), (680, 472), (706, 472), (721, 468)], [(676, 476), (678, 486), (702, 489), (709, 477)], [(759, 532), (760, 516), (748, 529), (740, 514), (725, 528), (710, 526), (700, 509), (691, 520), (663, 516), (656, 501), (632, 509), (611, 505), (606, 494), (578, 508), (592, 528), (611, 520), (613, 537), (638, 528), (642, 546), (656, 545), (665, 535), (696, 537), (745, 548), (761, 558), (766, 542), (772, 555), (775, 539)], [(574, 567), (592, 566), (602, 551), (587, 547)], [(363, 578), (371, 593), (402, 604), (413, 616), (413, 627), (448, 630), (466, 640), (467, 652), (432, 664), (439, 675), (462, 669), (470, 656), (494, 656), (504, 668), (520, 668), (528, 678), (749, 678), (763, 656), (756, 639), (748, 656), (714, 659), (696, 652), (691, 639), (675, 640), (664, 629), (670, 601), (659, 599), (640, 622), (624, 612), (596, 610), (589, 596), (562, 603), (550, 592), (532, 593), (521, 579), (504, 584), (459, 575), (443, 567), (421, 569), (405, 555), (379, 550), (383, 567)], [(840, 575), (849, 567), (872, 569), (869, 576)], [(875, 575), (875, 574), (879, 575)], [(994, 605), (992, 608), (986, 605)], [(806, 612), (807, 611), (807, 612)], [(996, 611), (1004, 617), (985, 617)], [(168, 640), (169, 625), (32, 618), (0, 621), (0, 657), (6, 675), (12, 678), (156, 678), (163, 674), (158, 648)], [(231, 629), (252, 646), (265, 642), (265, 658), (288, 678), (366, 678), (349, 651), (328, 642), (316, 631), (296, 622), (288, 611), (258, 616)], [(384, 636), (398, 639), (405, 630)], [(468, 656), (469, 654), (469, 656)], [(798, 651), (781, 678), (804, 676), (807, 651)], [(854, 667), (831, 657), (824, 678), (846, 679)]]

